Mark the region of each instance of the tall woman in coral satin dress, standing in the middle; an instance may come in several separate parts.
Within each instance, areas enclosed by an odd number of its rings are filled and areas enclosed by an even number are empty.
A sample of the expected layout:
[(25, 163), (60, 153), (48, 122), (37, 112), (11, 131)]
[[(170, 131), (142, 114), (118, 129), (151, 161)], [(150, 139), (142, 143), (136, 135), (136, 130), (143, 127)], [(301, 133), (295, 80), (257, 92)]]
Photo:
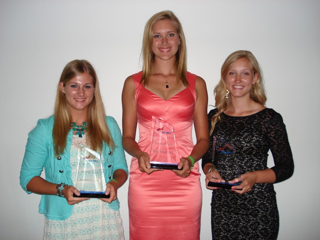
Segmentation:
[[(122, 93), (123, 146), (132, 155), (130, 239), (199, 239), (202, 190), (198, 160), (209, 147), (208, 96), (204, 80), (187, 72), (185, 38), (172, 12), (159, 12), (148, 20), (142, 57), (143, 71), (125, 80)], [(173, 126), (179, 170), (150, 168), (152, 116)]]

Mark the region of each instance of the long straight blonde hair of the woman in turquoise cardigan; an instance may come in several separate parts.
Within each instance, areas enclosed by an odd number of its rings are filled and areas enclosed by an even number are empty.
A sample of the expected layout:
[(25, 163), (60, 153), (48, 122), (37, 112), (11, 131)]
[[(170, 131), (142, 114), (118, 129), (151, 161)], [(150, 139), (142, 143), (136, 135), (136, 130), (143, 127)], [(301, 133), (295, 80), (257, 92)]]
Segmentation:
[[(101, 152), (104, 142), (114, 148), (115, 143), (111, 137), (108, 124), (106, 122), (105, 108), (102, 102), (98, 77), (93, 66), (86, 60), (73, 60), (63, 69), (60, 82), (63, 86), (72, 78), (83, 73), (88, 73), (93, 78), (94, 97), (88, 108), (88, 127), (86, 141), (94, 151)], [(56, 156), (62, 154), (67, 145), (67, 136), (70, 131), (71, 113), (66, 98), (62, 95), (62, 90), (58, 84), (57, 96), (54, 108), (54, 125), (52, 138), (54, 153)]]

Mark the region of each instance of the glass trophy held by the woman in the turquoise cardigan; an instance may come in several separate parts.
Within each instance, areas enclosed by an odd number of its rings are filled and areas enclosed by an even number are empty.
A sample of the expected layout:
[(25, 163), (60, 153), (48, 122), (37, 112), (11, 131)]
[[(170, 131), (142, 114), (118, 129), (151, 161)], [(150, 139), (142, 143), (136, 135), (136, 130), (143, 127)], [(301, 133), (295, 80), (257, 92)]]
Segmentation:
[(76, 189), (80, 196), (74, 197), (94, 197), (109, 198), (105, 195), (106, 180), (100, 153), (78, 144), (78, 168), (76, 177)]

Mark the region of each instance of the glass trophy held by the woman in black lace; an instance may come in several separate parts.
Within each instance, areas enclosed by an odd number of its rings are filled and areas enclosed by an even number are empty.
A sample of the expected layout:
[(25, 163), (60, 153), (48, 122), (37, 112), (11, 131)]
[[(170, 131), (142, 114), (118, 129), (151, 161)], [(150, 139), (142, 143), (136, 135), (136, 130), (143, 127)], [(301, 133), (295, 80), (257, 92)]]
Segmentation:
[[(242, 181), (228, 183), (230, 180), (241, 177), (236, 150), (231, 144), (216, 136), (213, 136), (212, 145), (212, 167), (213, 166), (226, 182), (208, 182), (208, 187), (231, 189), (232, 186), (237, 186), (242, 183)], [(215, 171), (211, 171), (212, 177), (214, 177), (214, 173)]]

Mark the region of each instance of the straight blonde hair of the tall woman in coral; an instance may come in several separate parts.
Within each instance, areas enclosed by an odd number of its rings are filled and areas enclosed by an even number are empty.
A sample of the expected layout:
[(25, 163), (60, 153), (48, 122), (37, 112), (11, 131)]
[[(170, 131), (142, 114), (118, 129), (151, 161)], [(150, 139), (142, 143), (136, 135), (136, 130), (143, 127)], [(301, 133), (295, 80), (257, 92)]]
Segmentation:
[(142, 40), (142, 60), (143, 60), (143, 66), (142, 66), (142, 78), (141, 78), (141, 84), (143, 86), (148, 85), (150, 77), (155, 72), (155, 55), (152, 52), (152, 43), (153, 43), (153, 27), (155, 23), (159, 20), (171, 20), (175, 26), (177, 27), (177, 32), (179, 34), (180, 38), (180, 44), (178, 48), (178, 52), (176, 53), (176, 62), (174, 65), (174, 71), (177, 75), (176, 82), (179, 83), (180, 79), (181, 82), (187, 87), (188, 81), (187, 81), (187, 48), (186, 48), (186, 39), (184, 37), (184, 33), (182, 30), (182, 25), (179, 21), (179, 19), (174, 15), (171, 11), (163, 11), (158, 12), (155, 15), (153, 15), (148, 22), (146, 23), (146, 26), (144, 28), (143, 33), (143, 40)]

